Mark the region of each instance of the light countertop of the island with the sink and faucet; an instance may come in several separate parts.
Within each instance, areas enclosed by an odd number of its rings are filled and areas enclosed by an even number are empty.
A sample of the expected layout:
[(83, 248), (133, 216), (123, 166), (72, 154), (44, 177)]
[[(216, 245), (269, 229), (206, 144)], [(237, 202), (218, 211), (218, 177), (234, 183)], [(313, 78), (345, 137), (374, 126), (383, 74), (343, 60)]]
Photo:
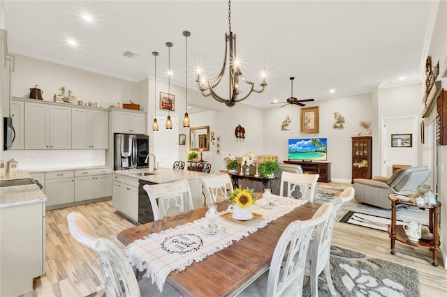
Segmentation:
[(192, 172), (189, 170), (177, 170), (170, 168), (159, 168), (154, 175), (138, 176), (140, 172), (153, 173), (152, 169), (140, 168), (140, 169), (125, 169), (115, 170), (113, 173), (122, 174), (131, 178), (140, 179), (142, 181), (149, 181), (151, 183), (170, 183), (172, 181), (179, 181), (181, 179), (196, 179), (200, 176), (214, 176), (214, 174), (208, 174), (203, 172)]

